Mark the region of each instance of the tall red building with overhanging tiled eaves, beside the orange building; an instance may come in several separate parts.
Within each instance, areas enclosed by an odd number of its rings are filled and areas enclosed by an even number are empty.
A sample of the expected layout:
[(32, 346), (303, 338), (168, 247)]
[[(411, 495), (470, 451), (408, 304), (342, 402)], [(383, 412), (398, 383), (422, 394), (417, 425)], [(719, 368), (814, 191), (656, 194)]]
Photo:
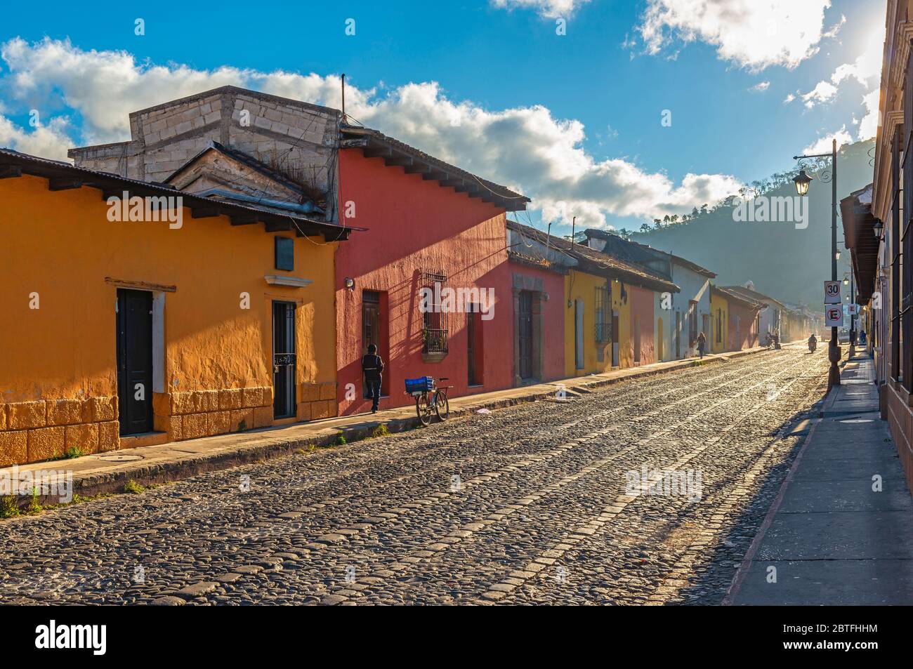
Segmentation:
[(370, 343), (386, 365), (381, 409), (413, 402), (404, 379), (417, 376), (447, 377), (454, 396), (509, 388), (505, 213), (529, 198), (378, 131), (341, 133), (341, 220), (368, 230), (336, 254), (339, 414), (371, 407), (361, 368)]

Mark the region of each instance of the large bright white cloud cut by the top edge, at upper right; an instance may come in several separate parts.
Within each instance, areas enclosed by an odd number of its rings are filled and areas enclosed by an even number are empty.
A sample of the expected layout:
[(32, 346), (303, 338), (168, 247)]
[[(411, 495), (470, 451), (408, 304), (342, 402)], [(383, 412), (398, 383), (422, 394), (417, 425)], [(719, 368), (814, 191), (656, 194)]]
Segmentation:
[(831, 0), (647, 0), (638, 26), (647, 53), (670, 44), (701, 41), (742, 68), (795, 68), (818, 51), (824, 10)]

